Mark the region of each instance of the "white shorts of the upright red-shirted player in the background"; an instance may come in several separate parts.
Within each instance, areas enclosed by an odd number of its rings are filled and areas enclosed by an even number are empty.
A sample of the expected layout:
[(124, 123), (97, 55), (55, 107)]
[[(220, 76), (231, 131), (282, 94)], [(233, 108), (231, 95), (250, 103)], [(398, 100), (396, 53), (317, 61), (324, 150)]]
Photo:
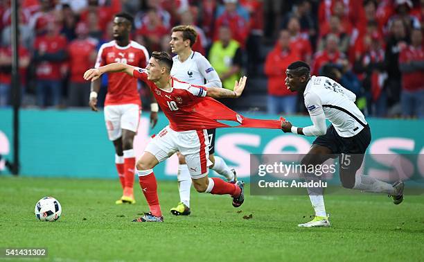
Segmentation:
[(107, 105), (104, 111), (107, 136), (111, 141), (120, 138), (123, 129), (136, 132), (139, 128), (141, 114), (139, 105)]

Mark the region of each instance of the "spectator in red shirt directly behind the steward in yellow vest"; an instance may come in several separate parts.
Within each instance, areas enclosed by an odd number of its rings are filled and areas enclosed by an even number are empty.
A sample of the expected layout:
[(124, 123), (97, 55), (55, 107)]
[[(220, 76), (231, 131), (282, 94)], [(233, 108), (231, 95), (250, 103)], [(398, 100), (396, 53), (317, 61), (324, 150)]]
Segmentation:
[(218, 40), (218, 28), (228, 26), (233, 39), (244, 47), (249, 35), (249, 23), (237, 13), (237, 0), (224, 0), (225, 10), (215, 21), (215, 37)]

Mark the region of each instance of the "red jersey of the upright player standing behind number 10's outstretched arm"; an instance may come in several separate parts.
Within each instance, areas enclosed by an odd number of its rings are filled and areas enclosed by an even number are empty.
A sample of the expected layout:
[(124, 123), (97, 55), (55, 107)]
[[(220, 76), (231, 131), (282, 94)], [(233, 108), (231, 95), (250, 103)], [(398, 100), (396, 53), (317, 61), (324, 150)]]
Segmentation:
[[(147, 49), (131, 41), (127, 46), (118, 46), (113, 40), (100, 46), (96, 68), (114, 62), (146, 67), (149, 61)], [(107, 95), (105, 105), (136, 104), (141, 106), (137, 80), (126, 73), (109, 73), (107, 76)]]

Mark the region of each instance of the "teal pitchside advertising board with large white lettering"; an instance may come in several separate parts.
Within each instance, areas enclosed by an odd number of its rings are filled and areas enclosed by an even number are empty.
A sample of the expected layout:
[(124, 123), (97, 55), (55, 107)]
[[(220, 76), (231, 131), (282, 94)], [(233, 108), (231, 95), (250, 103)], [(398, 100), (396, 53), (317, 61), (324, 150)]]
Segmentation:
[[(141, 155), (152, 134), (168, 124), (159, 113), (157, 127), (150, 129), (148, 112), (143, 112), (139, 130), (134, 139), (137, 157)], [(279, 116), (245, 114), (256, 119), (279, 119)], [(308, 116), (285, 116), (297, 126), (311, 124)], [(364, 157), (364, 175), (376, 175), (391, 182), (403, 178), (424, 187), (423, 120), (367, 119), (371, 126), (372, 141)], [(329, 124), (329, 123), (328, 123)], [(12, 158), (12, 110), (0, 110), (0, 154), (3, 160)], [(20, 112), (19, 175), (29, 177), (87, 177), (116, 179), (114, 150), (107, 139), (103, 112), (89, 110), (21, 110)], [(280, 130), (253, 128), (220, 128), (216, 132), (215, 154), (223, 157), (230, 168), (236, 168), (238, 177), (246, 182), (256, 181), (258, 166), (267, 163), (263, 156), (288, 155), (300, 159), (308, 152), (315, 137), (285, 134)], [(262, 157), (258, 157), (262, 156)], [(257, 159), (258, 162), (252, 161)], [(8, 174), (0, 161), (0, 175)], [(279, 159), (276, 159), (276, 162)], [(394, 163), (400, 166), (394, 166)], [(175, 180), (177, 157), (162, 162), (154, 170), (158, 180)], [(253, 166), (252, 166), (253, 165)], [(396, 168), (400, 171), (393, 175)], [(3, 171), (1, 171), (3, 169)], [(339, 184), (336, 168), (328, 184)], [(210, 171), (210, 175), (216, 175)], [(253, 174), (253, 175), (252, 175)], [(270, 172), (266, 179), (274, 179)], [(407, 182), (408, 184), (408, 182)], [(254, 189), (252, 187), (252, 189)]]

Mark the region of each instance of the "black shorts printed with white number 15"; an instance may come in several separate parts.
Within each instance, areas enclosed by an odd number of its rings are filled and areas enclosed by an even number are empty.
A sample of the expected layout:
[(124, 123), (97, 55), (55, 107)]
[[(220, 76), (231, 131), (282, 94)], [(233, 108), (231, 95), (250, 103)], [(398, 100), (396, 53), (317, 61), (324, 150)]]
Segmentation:
[[(340, 137), (333, 125), (327, 128), (326, 134), (317, 137), (312, 144), (329, 148), (346, 173), (355, 173), (362, 165), (366, 148), (371, 143), (371, 130), (366, 125), (361, 132), (353, 137)], [(341, 170), (341, 171), (342, 171)]]

